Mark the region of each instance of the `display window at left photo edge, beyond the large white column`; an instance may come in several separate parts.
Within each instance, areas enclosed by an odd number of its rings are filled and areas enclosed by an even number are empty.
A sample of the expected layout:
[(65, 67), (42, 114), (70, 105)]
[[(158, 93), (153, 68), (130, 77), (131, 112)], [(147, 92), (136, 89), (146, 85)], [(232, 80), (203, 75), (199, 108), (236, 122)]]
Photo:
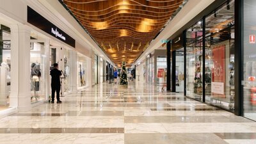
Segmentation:
[(10, 106), (11, 86), (11, 31), (1, 24), (0, 28), (0, 110)]

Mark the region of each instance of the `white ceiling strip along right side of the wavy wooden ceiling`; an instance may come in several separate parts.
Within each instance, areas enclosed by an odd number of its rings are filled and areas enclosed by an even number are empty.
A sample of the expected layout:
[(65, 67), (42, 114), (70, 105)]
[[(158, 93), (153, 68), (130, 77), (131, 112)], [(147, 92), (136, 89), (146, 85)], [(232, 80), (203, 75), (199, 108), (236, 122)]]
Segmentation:
[(146, 51), (141, 54), (138, 60), (132, 65), (138, 64), (154, 49), (160, 47), (163, 43), (161, 40), (166, 40), (172, 36), (176, 31), (179, 31), (185, 24), (192, 20), (196, 15), (202, 12), (207, 6), (213, 3), (215, 0), (190, 0), (180, 10), (180, 12), (169, 22), (166, 28), (157, 36), (157, 38), (151, 42)]

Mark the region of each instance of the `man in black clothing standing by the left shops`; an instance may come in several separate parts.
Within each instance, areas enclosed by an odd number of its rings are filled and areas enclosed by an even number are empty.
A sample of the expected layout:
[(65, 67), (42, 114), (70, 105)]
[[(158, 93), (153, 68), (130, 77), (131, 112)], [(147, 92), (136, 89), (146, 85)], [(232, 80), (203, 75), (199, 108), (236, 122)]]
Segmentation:
[(61, 100), (60, 100), (60, 76), (61, 76), (61, 71), (58, 70), (58, 63), (54, 63), (53, 67), (54, 68), (50, 72), (50, 74), (52, 76), (52, 81), (51, 81), (52, 103), (54, 103), (55, 91), (57, 93), (57, 103), (61, 103)]

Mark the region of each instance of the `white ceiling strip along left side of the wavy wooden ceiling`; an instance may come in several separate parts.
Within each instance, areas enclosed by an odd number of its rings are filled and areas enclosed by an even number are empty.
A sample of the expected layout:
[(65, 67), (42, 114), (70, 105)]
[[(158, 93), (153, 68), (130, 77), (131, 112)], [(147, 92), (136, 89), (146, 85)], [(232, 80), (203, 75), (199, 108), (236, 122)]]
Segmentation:
[[(58, 0), (27, 0), (29, 3), (29, 6), (33, 6), (32, 8), (36, 8), (36, 11), (42, 15), (41, 12), (45, 12), (44, 9), (47, 9), (51, 12), (51, 14), (54, 14), (56, 17), (54, 19), (54, 22), (49, 19), (52, 23), (58, 24), (60, 26), (64, 25), (64, 28), (70, 29), (70, 31), (65, 31), (65, 29), (62, 29), (66, 33), (72, 33), (73, 35), (70, 36), (76, 36), (73, 37), (76, 39), (76, 42), (79, 42), (84, 47), (92, 48), (94, 52), (99, 54), (99, 56), (103, 57), (105, 60), (109, 61), (112, 65), (115, 65), (111, 60), (109, 60), (108, 56), (100, 49), (99, 45), (97, 45), (94, 40), (84, 31), (83, 28), (77, 23), (77, 21), (68, 13), (68, 11), (61, 5), (61, 3)], [(31, 4), (31, 5), (30, 5)], [(42, 6), (44, 6), (42, 8)], [(45, 16), (45, 15), (44, 15)], [(47, 18), (47, 17), (45, 17)], [(57, 21), (57, 22), (56, 22)], [(57, 25), (58, 26), (58, 25)]]

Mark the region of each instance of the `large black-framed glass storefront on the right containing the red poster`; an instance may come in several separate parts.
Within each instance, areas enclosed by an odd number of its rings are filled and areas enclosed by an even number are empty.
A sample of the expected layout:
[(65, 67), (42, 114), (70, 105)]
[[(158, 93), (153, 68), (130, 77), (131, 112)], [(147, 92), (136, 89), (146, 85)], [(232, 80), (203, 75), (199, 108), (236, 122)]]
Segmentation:
[[(232, 112), (236, 62), (234, 2), (215, 6), (183, 33), (170, 38), (172, 92), (184, 92), (191, 99)], [(252, 68), (252, 63), (248, 67)]]

